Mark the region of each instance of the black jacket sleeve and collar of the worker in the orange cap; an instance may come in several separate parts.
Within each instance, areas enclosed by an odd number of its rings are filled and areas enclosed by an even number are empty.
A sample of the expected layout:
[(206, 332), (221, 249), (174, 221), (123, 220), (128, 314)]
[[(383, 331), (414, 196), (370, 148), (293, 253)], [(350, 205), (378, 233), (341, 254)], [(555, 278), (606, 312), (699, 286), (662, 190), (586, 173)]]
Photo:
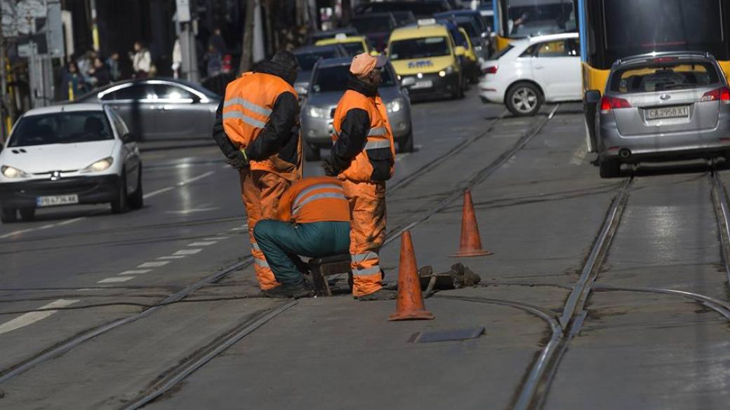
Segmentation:
[[(347, 89), (362, 95), (374, 98), (377, 96), (377, 87), (351, 76), (347, 82)], [(364, 109), (353, 108), (345, 114), (340, 125), (339, 137), (332, 147), (330, 160), (337, 171), (342, 171), (350, 165), (350, 161), (363, 150), (370, 130), (370, 116)]]

